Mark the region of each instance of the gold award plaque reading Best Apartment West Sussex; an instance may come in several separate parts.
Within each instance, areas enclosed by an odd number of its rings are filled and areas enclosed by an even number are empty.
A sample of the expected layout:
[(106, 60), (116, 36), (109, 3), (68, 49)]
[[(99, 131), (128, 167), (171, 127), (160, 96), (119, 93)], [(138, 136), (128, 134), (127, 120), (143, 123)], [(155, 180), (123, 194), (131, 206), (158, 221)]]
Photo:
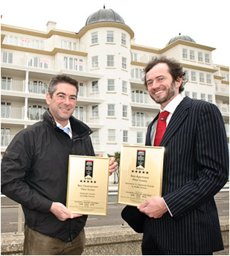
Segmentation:
[(122, 146), (118, 204), (138, 206), (162, 196), (164, 147)]

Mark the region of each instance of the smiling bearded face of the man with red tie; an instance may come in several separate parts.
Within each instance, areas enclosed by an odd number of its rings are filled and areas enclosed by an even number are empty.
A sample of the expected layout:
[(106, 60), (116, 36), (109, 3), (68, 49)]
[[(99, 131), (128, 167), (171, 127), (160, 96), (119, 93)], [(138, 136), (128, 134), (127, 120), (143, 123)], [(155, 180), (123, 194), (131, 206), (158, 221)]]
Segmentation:
[(146, 80), (150, 97), (156, 103), (161, 104), (162, 109), (179, 94), (179, 87), (182, 83), (182, 78), (173, 82), (166, 63), (159, 63), (153, 66), (147, 72)]

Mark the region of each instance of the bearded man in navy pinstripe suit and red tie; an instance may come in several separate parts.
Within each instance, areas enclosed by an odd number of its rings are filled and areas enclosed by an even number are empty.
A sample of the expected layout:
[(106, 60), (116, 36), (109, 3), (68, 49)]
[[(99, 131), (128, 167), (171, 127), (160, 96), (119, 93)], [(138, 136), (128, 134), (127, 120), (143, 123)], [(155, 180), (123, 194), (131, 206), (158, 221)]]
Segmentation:
[[(156, 58), (144, 73), (151, 98), (169, 112), (160, 143), (162, 197), (127, 206), (122, 217), (144, 233), (143, 255), (212, 255), (223, 249), (214, 195), (229, 177), (223, 118), (214, 104), (182, 98), (185, 72), (176, 60)], [(147, 129), (147, 146), (153, 146), (158, 116)]]

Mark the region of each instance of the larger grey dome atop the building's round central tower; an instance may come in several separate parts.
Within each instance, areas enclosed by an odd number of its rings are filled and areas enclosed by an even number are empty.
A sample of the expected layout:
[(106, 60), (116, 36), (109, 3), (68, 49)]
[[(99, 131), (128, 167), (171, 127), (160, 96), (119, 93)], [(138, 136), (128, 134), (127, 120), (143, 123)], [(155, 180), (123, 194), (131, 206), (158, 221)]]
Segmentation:
[(124, 19), (118, 13), (116, 13), (114, 10), (106, 9), (105, 6), (103, 9), (89, 15), (89, 18), (86, 20), (86, 25), (99, 22), (118, 22), (125, 24)]

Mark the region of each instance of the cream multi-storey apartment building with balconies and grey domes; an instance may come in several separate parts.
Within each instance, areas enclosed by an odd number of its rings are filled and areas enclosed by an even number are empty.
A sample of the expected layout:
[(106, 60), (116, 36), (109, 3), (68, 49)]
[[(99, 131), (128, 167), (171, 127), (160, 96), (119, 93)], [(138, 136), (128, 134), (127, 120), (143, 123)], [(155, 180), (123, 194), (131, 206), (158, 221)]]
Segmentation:
[(213, 63), (213, 47), (182, 35), (163, 49), (137, 45), (132, 28), (105, 8), (77, 33), (56, 26), (49, 21), (47, 31), (36, 31), (1, 25), (1, 157), (19, 131), (42, 119), (48, 82), (57, 74), (80, 83), (73, 115), (94, 131), (96, 154), (144, 145), (159, 105), (143, 85), (142, 70), (160, 55), (176, 58), (186, 70), (183, 96), (217, 104), (229, 137), (229, 66)]

